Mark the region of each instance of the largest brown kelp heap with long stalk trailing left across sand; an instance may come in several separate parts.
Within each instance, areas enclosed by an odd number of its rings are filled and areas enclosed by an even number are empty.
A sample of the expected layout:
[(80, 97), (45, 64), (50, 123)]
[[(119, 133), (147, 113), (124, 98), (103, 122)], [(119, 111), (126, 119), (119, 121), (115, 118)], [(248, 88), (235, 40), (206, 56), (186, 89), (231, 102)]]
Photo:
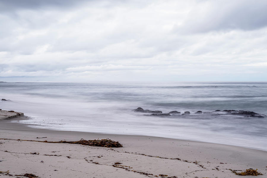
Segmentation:
[[(5, 140), (15, 140), (15, 139), (5, 139)], [(75, 142), (68, 142), (66, 140), (64, 141), (59, 141), (59, 142), (48, 142), (47, 140), (45, 141), (39, 141), (39, 140), (21, 140), (21, 139), (17, 139), (19, 141), (31, 141), (31, 142), (45, 142), (45, 143), (71, 143), (71, 144), (81, 144), (81, 145), (88, 145), (88, 146), (95, 146), (95, 147), (123, 147), (123, 145), (121, 145), (119, 142), (116, 142), (114, 140), (111, 139), (97, 139), (97, 140), (85, 140), (85, 139), (80, 139), (79, 141), (75, 141)]]

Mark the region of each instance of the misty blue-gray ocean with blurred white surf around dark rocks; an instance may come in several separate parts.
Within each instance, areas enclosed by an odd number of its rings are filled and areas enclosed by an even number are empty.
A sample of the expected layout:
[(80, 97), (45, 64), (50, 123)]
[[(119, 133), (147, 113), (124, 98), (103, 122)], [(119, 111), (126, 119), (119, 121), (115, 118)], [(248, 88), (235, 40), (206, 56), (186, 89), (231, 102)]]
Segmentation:
[[(0, 82), (2, 98), (10, 101), (0, 101), (0, 108), (23, 112), (29, 119), (20, 122), (29, 127), (147, 135), (267, 151), (267, 117), (209, 114), (249, 110), (267, 115), (267, 82)], [(145, 116), (133, 111), (138, 107), (191, 114)], [(194, 114), (198, 110), (204, 113)]]

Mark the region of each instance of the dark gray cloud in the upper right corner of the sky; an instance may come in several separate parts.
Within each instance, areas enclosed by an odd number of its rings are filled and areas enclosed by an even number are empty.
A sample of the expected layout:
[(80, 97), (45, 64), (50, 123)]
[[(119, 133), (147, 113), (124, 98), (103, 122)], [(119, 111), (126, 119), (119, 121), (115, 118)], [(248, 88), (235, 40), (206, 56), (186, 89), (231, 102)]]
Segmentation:
[(176, 31), (205, 33), (267, 26), (267, 1), (200, 1)]

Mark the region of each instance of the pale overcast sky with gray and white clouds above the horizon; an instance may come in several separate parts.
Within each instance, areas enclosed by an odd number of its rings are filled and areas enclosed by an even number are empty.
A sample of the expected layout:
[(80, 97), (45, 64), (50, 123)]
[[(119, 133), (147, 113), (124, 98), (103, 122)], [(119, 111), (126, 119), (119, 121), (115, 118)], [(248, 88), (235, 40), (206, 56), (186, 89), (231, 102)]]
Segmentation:
[(0, 0), (0, 81), (267, 81), (267, 1)]

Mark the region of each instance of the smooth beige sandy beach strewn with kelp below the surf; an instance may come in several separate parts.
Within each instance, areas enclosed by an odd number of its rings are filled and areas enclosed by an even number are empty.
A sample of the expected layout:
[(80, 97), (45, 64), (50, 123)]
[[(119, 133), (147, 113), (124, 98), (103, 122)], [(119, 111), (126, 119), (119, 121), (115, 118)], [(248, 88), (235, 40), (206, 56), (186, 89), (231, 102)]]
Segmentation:
[[(229, 169), (253, 168), (263, 173), (259, 177), (267, 177), (265, 151), (161, 137), (35, 129), (20, 124), (20, 119), (25, 118), (13, 118), (16, 122), (1, 120), (0, 138), (42, 141), (110, 138), (119, 141), (123, 147), (110, 149), (68, 143), (0, 139), (0, 171), (9, 170), (12, 175), (32, 173), (40, 178), (235, 178), (240, 176)], [(119, 165), (123, 166), (112, 166), (115, 162), (120, 162)], [(9, 177), (5, 174), (0, 173), (0, 177)]]

